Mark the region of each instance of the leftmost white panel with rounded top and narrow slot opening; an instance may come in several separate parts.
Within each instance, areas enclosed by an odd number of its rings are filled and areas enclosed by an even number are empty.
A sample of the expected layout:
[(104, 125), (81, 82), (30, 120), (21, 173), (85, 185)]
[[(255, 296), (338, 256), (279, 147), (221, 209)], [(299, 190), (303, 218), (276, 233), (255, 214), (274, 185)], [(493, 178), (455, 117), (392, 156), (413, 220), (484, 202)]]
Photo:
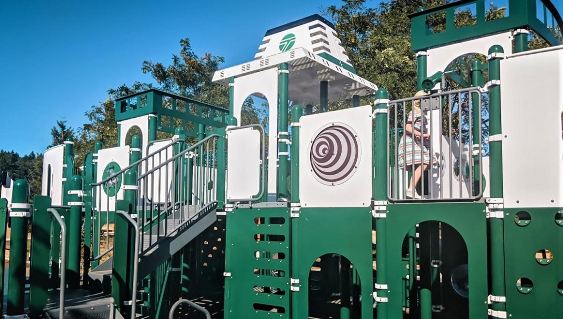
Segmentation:
[[(51, 147), (43, 154), (41, 195), (50, 196), (52, 205), (62, 205), (62, 161), (64, 155), (64, 145)], [(47, 183), (51, 185), (47, 185)]]

